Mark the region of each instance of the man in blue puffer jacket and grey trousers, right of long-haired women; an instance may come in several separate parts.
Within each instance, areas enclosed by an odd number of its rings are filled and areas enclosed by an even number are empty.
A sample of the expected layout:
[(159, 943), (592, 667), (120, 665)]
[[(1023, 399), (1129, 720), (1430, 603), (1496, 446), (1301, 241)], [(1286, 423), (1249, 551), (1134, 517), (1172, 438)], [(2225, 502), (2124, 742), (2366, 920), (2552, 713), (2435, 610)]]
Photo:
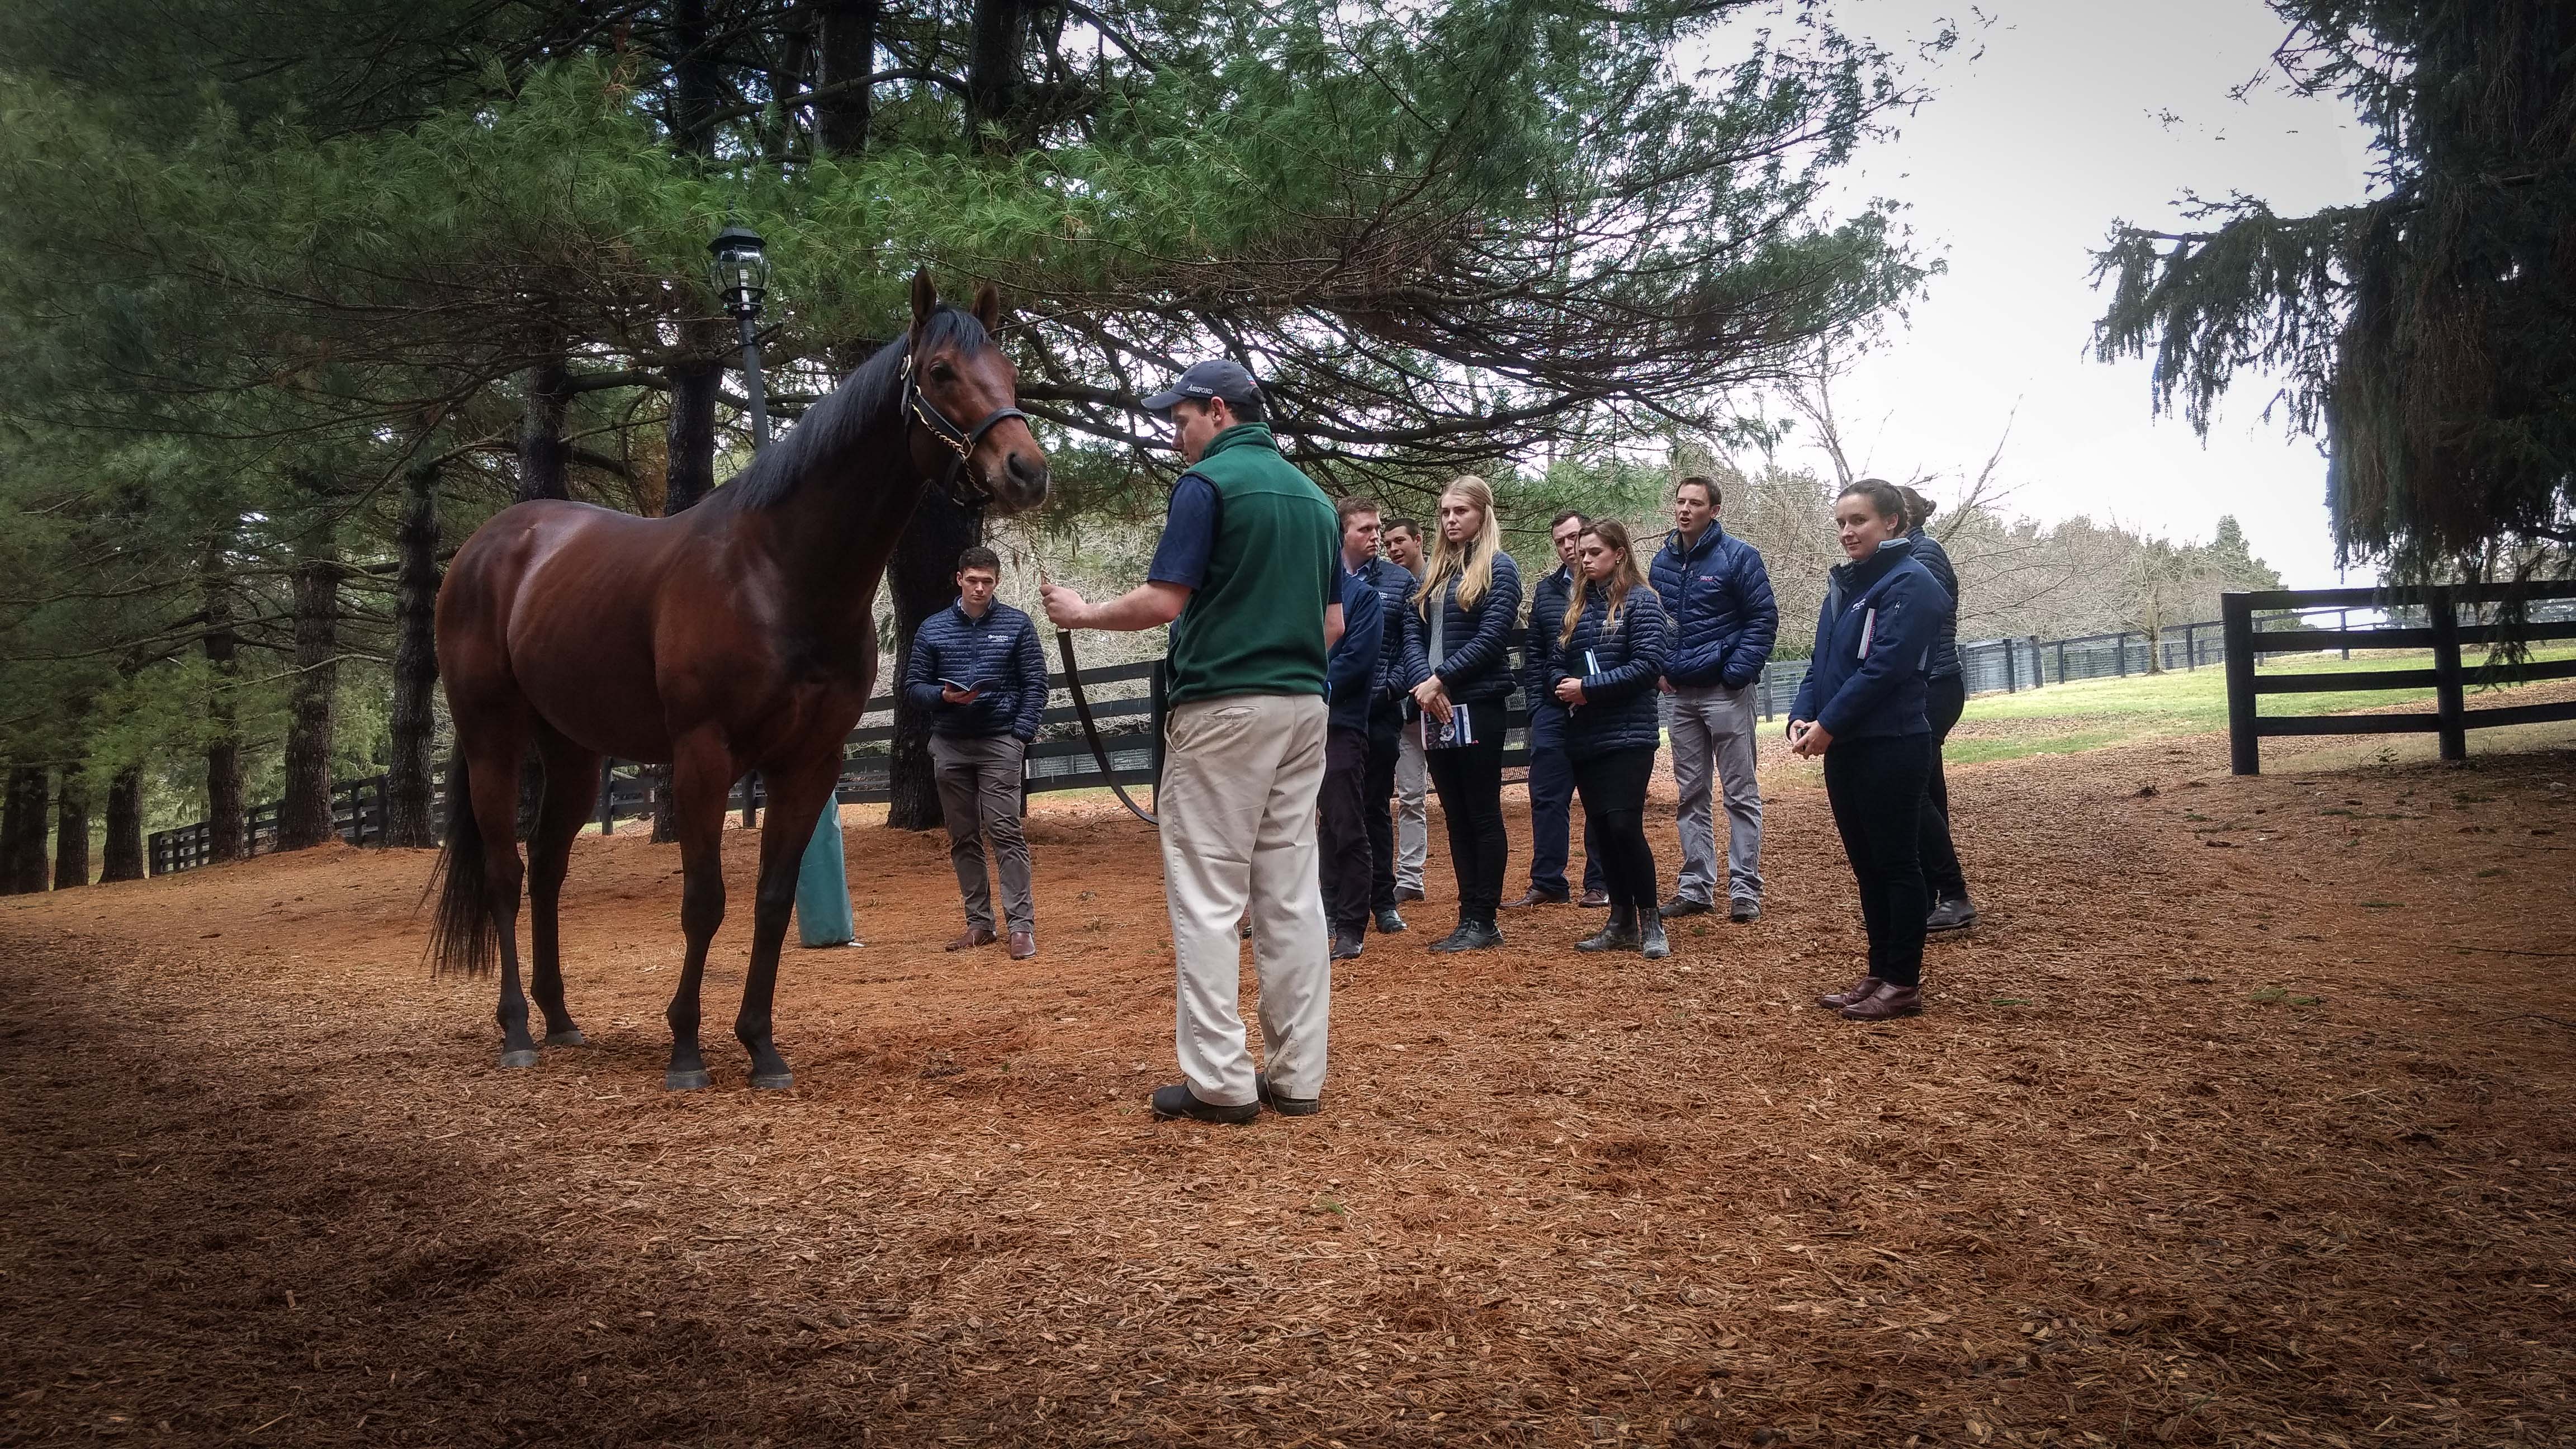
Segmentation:
[(1718, 838), (1710, 784), (1726, 789), (1726, 915), (1762, 915), (1762, 786), (1754, 784), (1754, 681), (1780, 637), (1770, 570), (1744, 539), (1718, 526), (1718, 480), (1685, 477), (1672, 490), (1672, 534), (1654, 554), (1672, 647), (1672, 784), (1682, 792), (1682, 884), (1664, 918), (1716, 910)]

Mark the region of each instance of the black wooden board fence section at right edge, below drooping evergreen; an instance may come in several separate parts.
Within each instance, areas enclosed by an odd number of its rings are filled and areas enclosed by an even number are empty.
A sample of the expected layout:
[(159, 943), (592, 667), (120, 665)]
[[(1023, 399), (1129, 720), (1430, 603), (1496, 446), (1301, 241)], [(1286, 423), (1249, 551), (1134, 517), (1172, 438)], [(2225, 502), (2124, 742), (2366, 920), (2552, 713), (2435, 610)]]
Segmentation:
[[(2576, 639), (2576, 583), (2535, 585), (2429, 585), (2429, 588), (2275, 588), (2228, 593), (2221, 598), (2221, 627), (2228, 660), (2228, 768), (2262, 773), (2262, 740), (2280, 735), (2439, 735), (2445, 761), (2468, 758), (2468, 732), (2494, 724), (2540, 724), (2576, 719), (2576, 701), (2504, 704), (2468, 709), (2468, 686), (2478, 668), (2460, 663), (2460, 645)], [(2496, 619), (2499, 606), (2524, 608), (2519, 624)], [(2259, 629), (2257, 611), (2344, 614), (2339, 629)], [(2349, 611), (2380, 611), (2385, 621), (2349, 627)], [(2432, 650), (2421, 670), (2300, 670), (2254, 673), (2262, 655), (2342, 650)], [(2512, 683), (2576, 678), (2576, 660), (2530, 663), (2509, 673)], [(2365, 688), (2432, 688), (2429, 712), (2403, 714), (2259, 714), (2264, 694), (2321, 694)]]

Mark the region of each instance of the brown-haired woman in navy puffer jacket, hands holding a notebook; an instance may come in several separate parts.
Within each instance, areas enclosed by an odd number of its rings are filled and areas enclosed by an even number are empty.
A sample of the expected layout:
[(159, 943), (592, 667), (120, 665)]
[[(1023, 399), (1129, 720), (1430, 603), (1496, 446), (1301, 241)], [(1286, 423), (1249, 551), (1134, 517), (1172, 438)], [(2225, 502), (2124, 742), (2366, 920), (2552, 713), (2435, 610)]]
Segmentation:
[(1654, 846), (1646, 843), (1646, 781), (1662, 722), (1654, 681), (1664, 673), (1664, 601), (1628, 552), (1628, 529), (1592, 523), (1574, 554), (1584, 590), (1548, 650), (1548, 694), (1566, 706), (1566, 755), (1584, 822), (1600, 830), (1610, 923), (1577, 951), (1638, 946), (1672, 954), (1654, 905)]

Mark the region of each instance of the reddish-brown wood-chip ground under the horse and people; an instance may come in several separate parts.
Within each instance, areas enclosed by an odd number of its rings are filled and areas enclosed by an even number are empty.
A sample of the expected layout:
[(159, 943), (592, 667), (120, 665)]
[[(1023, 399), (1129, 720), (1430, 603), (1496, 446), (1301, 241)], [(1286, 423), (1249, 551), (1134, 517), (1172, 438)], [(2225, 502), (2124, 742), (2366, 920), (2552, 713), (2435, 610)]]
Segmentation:
[(1025, 964), (943, 957), (940, 843), (853, 830), (788, 1096), (721, 1031), (739, 833), (693, 1096), (636, 835), (580, 843), (595, 1044), (533, 1073), (417, 964), (428, 856), (8, 900), (0, 1441), (2568, 1441), (2576, 755), (2223, 758), (1958, 771), (1989, 918), (1883, 1029), (1808, 1006), (1857, 923), (1793, 766), (1759, 926), (1370, 938), (1324, 1116), (1252, 1129), (1141, 1111), (1113, 807), (1033, 820)]

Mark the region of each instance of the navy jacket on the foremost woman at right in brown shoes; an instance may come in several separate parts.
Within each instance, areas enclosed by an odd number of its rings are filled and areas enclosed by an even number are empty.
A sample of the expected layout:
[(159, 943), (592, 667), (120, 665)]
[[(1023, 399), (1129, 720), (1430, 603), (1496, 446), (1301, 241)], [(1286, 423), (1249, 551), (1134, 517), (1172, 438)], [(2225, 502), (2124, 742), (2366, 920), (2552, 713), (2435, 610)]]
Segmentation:
[(1837, 565), (1816, 614), (1816, 657), (1788, 717), (1824, 724), (1837, 743), (1929, 735), (1924, 660), (1947, 608), (1950, 596), (1914, 559), (1911, 539)]

